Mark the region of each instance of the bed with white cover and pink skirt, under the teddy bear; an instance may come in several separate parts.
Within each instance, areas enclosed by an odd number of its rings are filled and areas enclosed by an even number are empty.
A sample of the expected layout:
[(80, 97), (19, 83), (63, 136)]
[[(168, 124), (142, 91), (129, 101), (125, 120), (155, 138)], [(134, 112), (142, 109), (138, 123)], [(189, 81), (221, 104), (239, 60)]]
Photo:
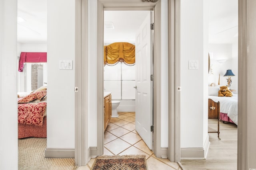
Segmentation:
[(219, 87), (209, 87), (208, 98), (214, 102), (220, 102), (220, 120), (235, 123), (238, 122), (238, 95), (232, 97), (218, 97)]

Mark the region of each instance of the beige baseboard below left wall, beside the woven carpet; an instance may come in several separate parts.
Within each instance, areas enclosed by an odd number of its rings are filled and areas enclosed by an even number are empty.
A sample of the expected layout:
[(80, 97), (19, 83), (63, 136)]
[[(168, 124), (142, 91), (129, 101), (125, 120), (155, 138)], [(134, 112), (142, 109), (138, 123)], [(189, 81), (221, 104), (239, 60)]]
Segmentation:
[(46, 148), (45, 158), (74, 158), (74, 148)]

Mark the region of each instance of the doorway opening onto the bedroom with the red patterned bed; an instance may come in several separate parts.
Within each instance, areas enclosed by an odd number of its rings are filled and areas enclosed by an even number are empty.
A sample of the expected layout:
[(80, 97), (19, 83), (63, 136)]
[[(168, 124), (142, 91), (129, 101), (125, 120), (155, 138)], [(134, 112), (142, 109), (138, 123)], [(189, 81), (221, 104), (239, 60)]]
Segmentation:
[[(34, 91), (47, 89), (47, 1), (26, 1), (17, 0), (17, 92), (19, 100), (29, 96)], [(23, 53), (22, 53), (23, 52)], [(32, 52), (32, 53), (31, 53)], [(38, 53), (38, 54), (37, 54)], [(39, 54), (40, 53), (40, 54)], [(28, 57), (29, 54), (29, 57)], [(39, 57), (40, 56), (40, 57)], [(21, 58), (21, 59), (20, 59)], [(26, 62), (25, 62), (26, 61)], [(23, 63), (24, 62), (24, 63)], [(44, 86), (45, 88), (41, 88)], [(44, 110), (43, 117), (40, 117), (40, 124), (18, 123), (18, 169), (24, 169), (40, 155), (43, 159), (47, 143), (46, 132), (46, 96), (36, 101), (29, 101), (30, 104), (18, 104), (18, 119), (22, 110), (34, 108), (42, 102), (45, 106), (36, 107)], [(28, 110), (26, 113), (28, 113)], [(32, 109), (31, 109), (32, 113)], [(34, 112), (33, 112), (34, 113)], [(39, 114), (39, 113), (38, 113)], [(39, 158), (39, 157), (38, 157)], [(39, 165), (40, 166), (40, 165)], [(35, 169), (37, 167), (35, 166)]]

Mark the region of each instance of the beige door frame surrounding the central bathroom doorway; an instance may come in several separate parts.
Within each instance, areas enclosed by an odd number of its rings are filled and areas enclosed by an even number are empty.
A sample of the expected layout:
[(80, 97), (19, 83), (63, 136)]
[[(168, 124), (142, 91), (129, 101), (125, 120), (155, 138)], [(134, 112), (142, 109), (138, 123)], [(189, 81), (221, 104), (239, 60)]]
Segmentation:
[[(136, 8), (135, 8), (136, 7)], [(98, 0), (98, 14), (97, 14), (97, 155), (103, 154), (104, 150), (104, 127), (103, 127), (103, 21), (104, 10), (154, 10), (155, 11), (155, 43), (154, 43), (154, 154), (160, 157), (160, 82), (161, 82), (161, 48), (160, 48), (160, 2), (148, 3), (141, 0), (125, 1), (125, 0)], [(156, 140), (158, 139), (158, 140)]]

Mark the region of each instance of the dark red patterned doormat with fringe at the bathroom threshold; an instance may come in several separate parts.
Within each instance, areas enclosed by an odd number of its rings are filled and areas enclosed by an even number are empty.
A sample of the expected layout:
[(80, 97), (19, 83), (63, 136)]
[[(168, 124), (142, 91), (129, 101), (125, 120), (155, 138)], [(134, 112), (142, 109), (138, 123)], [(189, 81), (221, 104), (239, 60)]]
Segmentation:
[(145, 155), (98, 156), (92, 170), (148, 170)]

